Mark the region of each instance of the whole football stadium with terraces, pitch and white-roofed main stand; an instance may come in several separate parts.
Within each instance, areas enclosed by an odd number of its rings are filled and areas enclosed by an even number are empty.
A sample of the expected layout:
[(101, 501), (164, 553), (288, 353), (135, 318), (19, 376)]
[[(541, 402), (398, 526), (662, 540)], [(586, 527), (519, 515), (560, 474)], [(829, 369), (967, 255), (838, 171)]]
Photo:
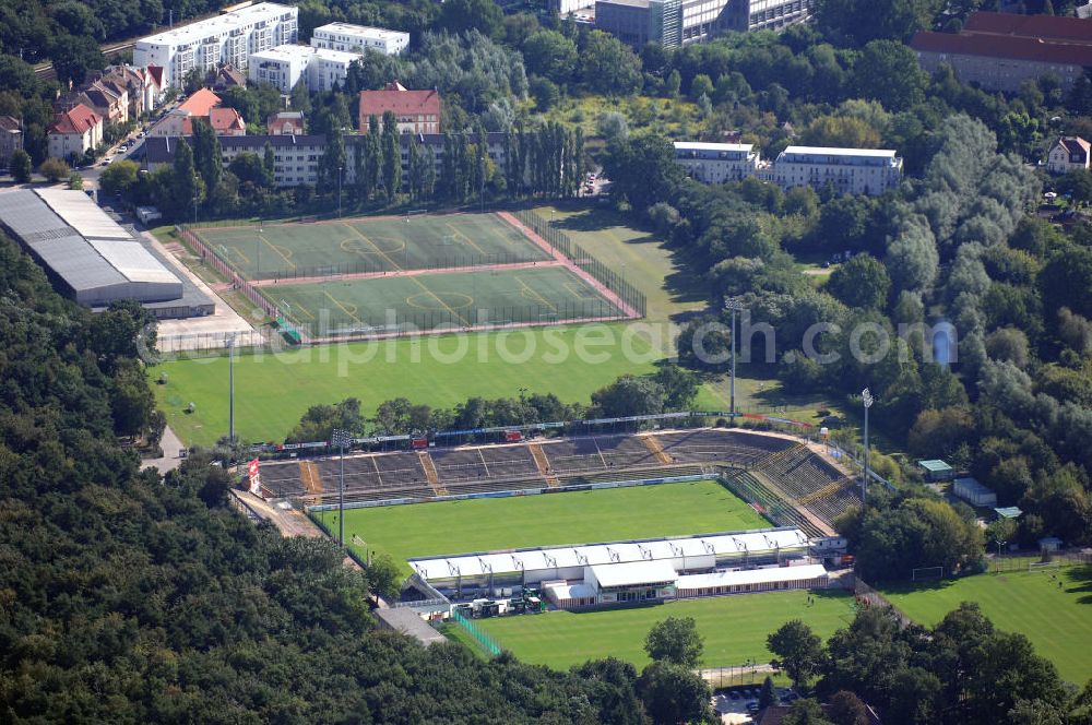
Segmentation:
[[(392, 604), (428, 618), (841, 585), (844, 540), (832, 521), (859, 499), (817, 443), (723, 428), (490, 432), (508, 441), (356, 439), (411, 450), (264, 463), (262, 491), (295, 501), (336, 537), (344, 466), (349, 550), (400, 558), (408, 575)], [(308, 445), (325, 448), (269, 452)], [(721, 523), (733, 528), (708, 528)]]

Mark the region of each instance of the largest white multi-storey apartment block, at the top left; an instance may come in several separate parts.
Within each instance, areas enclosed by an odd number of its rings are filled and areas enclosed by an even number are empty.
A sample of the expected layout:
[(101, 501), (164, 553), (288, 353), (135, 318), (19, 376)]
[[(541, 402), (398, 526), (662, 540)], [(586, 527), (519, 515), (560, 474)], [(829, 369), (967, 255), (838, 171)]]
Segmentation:
[(197, 68), (205, 73), (224, 63), (247, 69), (248, 56), (296, 43), (298, 10), (273, 2), (182, 25), (136, 41), (133, 66), (163, 68), (164, 87), (179, 87)]

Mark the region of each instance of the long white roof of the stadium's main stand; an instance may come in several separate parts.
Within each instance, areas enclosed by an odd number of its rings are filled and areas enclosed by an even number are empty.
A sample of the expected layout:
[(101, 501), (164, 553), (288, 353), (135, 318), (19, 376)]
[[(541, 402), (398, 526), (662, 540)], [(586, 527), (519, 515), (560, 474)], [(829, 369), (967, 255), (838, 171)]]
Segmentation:
[(513, 573), (543, 569), (591, 567), (630, 561), (674, 561), (690, 557), (805, 549), (808, 537), (798, 528), (769, 528), (752, 532), (707, 534), (678, 538), (654, 538), (606, 544), (577, 544), (537, 549), (517, 549), (447, 557), (411, 559), (410, 566), (424, 579)]

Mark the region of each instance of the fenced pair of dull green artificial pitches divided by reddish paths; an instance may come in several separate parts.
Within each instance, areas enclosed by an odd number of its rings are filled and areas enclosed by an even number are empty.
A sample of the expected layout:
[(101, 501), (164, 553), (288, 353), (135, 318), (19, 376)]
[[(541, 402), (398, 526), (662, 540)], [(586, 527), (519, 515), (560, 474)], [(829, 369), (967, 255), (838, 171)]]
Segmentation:
[(301, 341), (643, 317), (641, 293), (523, 217), (532, 228), (500, 212), (180, 230)]

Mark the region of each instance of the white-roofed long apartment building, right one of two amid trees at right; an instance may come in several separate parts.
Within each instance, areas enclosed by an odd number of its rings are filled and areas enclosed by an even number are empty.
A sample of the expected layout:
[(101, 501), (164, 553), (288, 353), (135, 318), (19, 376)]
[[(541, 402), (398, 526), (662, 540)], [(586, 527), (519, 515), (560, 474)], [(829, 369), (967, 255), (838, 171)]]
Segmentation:
[(769, 178), (782, 189), (819, 191), (830, 183), (838, 193), (875, 197), (898, 186), (902, 158), (887, 148), (788, 146), (771, 166)]

